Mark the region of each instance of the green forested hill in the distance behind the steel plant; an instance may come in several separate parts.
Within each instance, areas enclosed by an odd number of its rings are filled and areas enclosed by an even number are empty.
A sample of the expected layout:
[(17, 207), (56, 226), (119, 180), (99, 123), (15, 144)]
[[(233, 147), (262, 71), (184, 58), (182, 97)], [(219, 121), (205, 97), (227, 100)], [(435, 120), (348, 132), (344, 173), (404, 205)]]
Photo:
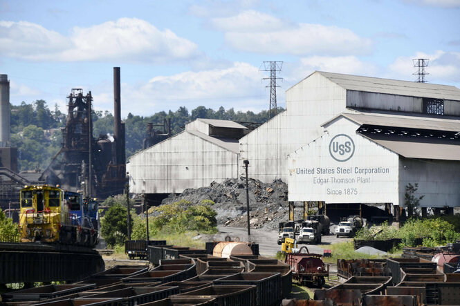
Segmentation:
[[(283, 111), (279, 108), (278, 111)], [(226, 110), (222, 106), (214, 111), (205, 106), (198, 106), (191, 112), (181, 106), (177, 111), (161, 111), (151, 116), (128, 114), (124, 118), (126, 127), (126, 156), (129, 157), (142, 149), (142, 140), (147, 131), (147, 124), (163, 124), (164, 119), (171, 119), (172, 134), (182, 131), (186, 122), (196, 118), (228, 119), (239, 122), (264, 123), (268, 120), (268, 111), (253, 113), (235, 112), (233, 108)], [(22, 102), (19, 106), (11, 106), (11, 145), (18, 148), (19, 171), (42, 169), (48, 166), (51, 158), (59, 151), (62, 142), (60, 128), (64, 127), (66, 113), (59, 111), (57, 106), (50, 110), (44, 100), (31, 104)], [(113, 115), (108, 111), (97, 111), (93, 115), (93, 135), (113, 134)]]

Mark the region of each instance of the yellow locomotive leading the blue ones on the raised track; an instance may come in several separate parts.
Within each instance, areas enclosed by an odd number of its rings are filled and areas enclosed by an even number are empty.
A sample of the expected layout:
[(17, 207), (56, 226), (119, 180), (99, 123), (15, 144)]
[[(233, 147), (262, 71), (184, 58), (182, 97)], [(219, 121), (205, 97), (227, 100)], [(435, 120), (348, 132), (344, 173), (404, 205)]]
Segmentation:
[(21, 242), (71, 242), (71, 218), (62, 189), (46, 185), (26, 187), (21, 189), (20, 198)]

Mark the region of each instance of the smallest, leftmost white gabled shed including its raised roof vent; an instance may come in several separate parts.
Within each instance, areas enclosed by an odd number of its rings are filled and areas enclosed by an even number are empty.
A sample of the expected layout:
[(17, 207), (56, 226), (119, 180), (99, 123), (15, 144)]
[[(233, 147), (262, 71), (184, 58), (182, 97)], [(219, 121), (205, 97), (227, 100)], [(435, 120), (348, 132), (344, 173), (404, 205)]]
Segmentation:
[(229, 120), (196, 119), (185, 130), (129, 157), (133, 193), (181, 193), (237, 178), (239, 143), (248, 128)]

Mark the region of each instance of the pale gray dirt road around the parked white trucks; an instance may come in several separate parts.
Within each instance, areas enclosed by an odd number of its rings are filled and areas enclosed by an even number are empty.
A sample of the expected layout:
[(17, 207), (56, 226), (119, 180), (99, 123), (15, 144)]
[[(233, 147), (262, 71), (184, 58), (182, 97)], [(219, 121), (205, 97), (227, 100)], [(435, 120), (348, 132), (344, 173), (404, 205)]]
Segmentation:
[[(248, 238), (248, 230), (241, 227), (224, 227), (218, 226), (220, 233), (214, 236), (214, 240), (225, 240), (226, 236), (230, 236), (232, 240), (238, 237), (241, 241), (246, 241)], [(277, 244), (278, 232), (266, 231), (264, 229), (251, 229), (251, 240), (259, 243), (259, 252), (264, 256), (276, 256), (277, 251), (281, 247)], [(351, 241), (350, 238), (336, 238), (334, 235), (322, 236), (321, 245), (301, 245), (306, 246), (310, 253), (323, 254), (323, 250), (327, 249), (328, 245), (338, 242)]]

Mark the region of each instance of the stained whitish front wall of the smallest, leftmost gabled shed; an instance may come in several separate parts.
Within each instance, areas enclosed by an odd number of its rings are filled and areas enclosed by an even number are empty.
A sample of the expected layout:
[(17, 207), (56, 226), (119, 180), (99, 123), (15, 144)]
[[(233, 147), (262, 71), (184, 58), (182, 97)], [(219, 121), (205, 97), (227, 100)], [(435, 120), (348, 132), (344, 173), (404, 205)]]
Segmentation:
[(133, 193), (181, 193), (239, 175), (238, 154), (183, 131), (129, 158)]

